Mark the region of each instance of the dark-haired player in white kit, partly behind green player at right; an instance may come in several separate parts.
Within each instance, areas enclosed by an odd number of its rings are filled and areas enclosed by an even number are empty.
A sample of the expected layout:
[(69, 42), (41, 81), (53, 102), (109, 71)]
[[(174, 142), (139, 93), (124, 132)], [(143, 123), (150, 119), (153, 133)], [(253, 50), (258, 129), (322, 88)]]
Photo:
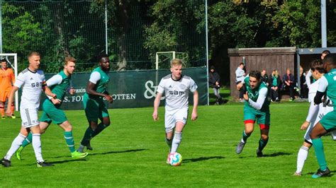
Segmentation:
[(331, 105), (330, 100), (325, 99), (324, 103), (320, 103), (320, 105), (315, 105), (314, 98), (316, 93), (318, 92), (318, 86), (320, 83), (320, 78), (325, 74), (325, 69), (323, 69), (322, 61), (314, 60), (310, 64), (310, 71), (312, 73), (313, 78), (316, 80), (309, 87), (308, 100), (310, 102), (310, 107), (308, 111), (308, 115), (306, 121), (301, 125), (301, 130), (306, 130), (305, 136), (303, 138), (303, 145), (298, 151), (298, 158), (296, 162), (296, 172), (293, 175), (301, 176), (303, 165), (308, 157), (309, 149), (312, 146), (312, 141), (310, 139), (310, 132), (313, 130), (315, 124), (320, 122), (320, 119), (327, 114), (327, 112), (331, 112), (333, 107)]

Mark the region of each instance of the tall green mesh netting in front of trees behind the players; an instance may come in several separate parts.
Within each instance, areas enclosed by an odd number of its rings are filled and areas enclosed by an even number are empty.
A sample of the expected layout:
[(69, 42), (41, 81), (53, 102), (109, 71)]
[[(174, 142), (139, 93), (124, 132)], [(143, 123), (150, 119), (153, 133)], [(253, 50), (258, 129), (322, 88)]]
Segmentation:
[[(107, 30), (113, 70), (155, 69), (155, 52), (162, 50), (188, 54), (188, 66), (206, 64), (203, 18), (196, 18), (204, 1), (176, 1), (175, 6), (162, 8), (177, 15), (176, 24), (169, 23), (169, 15), (158, 18), (153, 13), (170, 1), (122, 2), (106, 1), (106, 17), (105, 1), (2, 1), (3, 52), (18, 54), (19, 71), (33, 50), (42, 55), (46, 73), (62, 69), (67, 54), (77, 59), (77, 71), (87, 72), (96, 66), (96, 55), (106, 52)], [(188, 11), (184, 18), (179, 14), (186, 8), (194, 13)], [(172, 44), (152, 40), (164, 32)]]

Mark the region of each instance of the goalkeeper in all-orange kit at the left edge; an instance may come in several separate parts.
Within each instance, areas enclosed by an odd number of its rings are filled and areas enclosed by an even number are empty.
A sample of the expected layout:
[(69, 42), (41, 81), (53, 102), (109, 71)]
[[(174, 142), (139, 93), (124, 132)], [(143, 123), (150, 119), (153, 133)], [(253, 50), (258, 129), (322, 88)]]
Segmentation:
[[(6, 59), (1, 60), (1, 69), (0, 69), (0, 112), (1, 119), (5, 119), (5, 103), (9, 98), (9, 93), (11, 93), (11, 86), (15, 82), (15, 76), (13, 69), (8, 67)], [(14, 101), (11, 104), (7, 103), (8, 106), (11, 106), (11, 118), (15, 119), (14, 115)]]

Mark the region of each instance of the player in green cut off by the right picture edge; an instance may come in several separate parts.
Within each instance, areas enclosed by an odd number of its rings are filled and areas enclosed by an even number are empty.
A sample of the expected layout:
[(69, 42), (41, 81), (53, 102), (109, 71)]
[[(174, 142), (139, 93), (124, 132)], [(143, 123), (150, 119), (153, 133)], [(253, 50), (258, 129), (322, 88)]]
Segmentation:
[(328, 112), (318, 122), (313, 131), (310, 133), (310, 138), (313, 142), (316, 158), (320, 169), (313, 174), (313, 178), (325, 177), (330, 175), (330, 170), (327, 168), (327, 161), (325, 160), (325, 153), (323, 150), (323, 142), (320, 138), (328, 131), (336, 129), (336, 56), (335, 54), (328, 54), (323, 59), (323, 66), (327, 74), (320, 78), (318, 85), (318, 92), (315, 95), (314, 102), (316, 105), (322, 102), (323, 95), (327, 93), (327, 97), (332, 101), (334, 110)]

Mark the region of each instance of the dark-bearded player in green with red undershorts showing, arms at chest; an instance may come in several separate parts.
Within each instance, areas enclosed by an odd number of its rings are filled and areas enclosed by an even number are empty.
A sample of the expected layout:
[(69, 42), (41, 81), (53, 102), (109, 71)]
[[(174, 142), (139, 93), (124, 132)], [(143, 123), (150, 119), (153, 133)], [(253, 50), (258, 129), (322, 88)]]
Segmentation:
[[(267, 145), (269, 140), (269, 100), (267, 100), (268, 88), (266, 83), (262, 82), (259, 71), (251, 71), (249, 76), (245, 77), (246, 93), (244, 94), (244, 123), (245, 130), (242, 131), (242, 140), (238, 143), (236, 153), (242, 153), (247, 138), (252, 134), (254, 122), (260, 127), (261, 138), (257, 148), (257, 157), (262, 157), (262, 149)], [(240, 88), (240, 86), (237, 86)]]

